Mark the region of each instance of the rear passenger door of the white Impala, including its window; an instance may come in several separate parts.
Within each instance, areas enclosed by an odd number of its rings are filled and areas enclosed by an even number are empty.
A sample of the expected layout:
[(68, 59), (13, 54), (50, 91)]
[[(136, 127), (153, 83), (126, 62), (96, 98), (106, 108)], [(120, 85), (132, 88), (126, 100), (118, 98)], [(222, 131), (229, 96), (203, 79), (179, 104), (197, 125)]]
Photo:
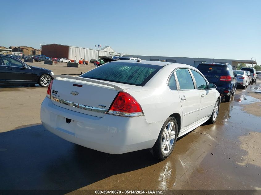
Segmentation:
[(192, 76), (187, 68), (175, 71), (179, 98), (182, 107), (183, 131), (188, 126), (195, 123), (200, 110), (200, 95), (194, 87)]

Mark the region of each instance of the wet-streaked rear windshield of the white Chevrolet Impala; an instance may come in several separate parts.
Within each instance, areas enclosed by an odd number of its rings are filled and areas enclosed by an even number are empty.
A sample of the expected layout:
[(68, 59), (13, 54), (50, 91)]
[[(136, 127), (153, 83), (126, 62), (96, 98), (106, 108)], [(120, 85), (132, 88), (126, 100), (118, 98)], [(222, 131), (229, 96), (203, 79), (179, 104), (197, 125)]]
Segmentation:
[(137, 63), (106, 63), (80, 77), (144, 86), (162, 66)]

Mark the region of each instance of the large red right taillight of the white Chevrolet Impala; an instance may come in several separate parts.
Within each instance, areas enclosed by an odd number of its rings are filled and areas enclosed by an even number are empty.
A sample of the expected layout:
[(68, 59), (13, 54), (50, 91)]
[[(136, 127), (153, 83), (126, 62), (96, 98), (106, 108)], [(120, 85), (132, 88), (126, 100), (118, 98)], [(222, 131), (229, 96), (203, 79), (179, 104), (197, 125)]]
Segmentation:
[(140, 104), (126, 92), (119, 92), (107, 114), (119, 116), (143, 116)]

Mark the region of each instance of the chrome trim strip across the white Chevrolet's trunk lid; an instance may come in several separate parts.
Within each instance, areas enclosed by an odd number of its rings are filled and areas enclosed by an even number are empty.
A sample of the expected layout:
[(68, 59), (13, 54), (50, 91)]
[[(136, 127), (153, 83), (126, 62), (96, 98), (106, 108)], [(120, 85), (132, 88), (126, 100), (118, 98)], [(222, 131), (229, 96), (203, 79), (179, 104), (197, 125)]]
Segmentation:
[(80, 108), (80, 109), (88, 110), (88, 111), (92, 111), (92, 112), (99, 112), (99, 113), (105, 114), (108, 111), (108, 110), (103, 109), (103, 108), (96, 108), (96, 107), (92, 107), (92, 106), (86, 106), (86, 105), (83, 105), (83, 104), (78, 104), (78, 103), (70, 102), (70, 101), (67, 101), (67, 100), (63, 100), (63, 99), (54, 97), (52, 95), (51, 95), (51, 99), (53, 101), (56, 101), (56, 102), (61, 103), (61, 104), (65, 104), (65, 105), (68, 105), (68, 106), (72, 106), (72, 107), (75, 107), (75, 108)]

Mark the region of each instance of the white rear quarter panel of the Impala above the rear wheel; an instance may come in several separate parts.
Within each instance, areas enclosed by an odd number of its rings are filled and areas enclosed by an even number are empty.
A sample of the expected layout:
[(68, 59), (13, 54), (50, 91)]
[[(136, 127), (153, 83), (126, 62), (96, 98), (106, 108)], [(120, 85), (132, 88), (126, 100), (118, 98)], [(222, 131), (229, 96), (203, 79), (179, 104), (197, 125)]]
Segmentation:
[(171, 91), (167, 85), (167, 80), (175, 68), (177, 66), (174, 64), (167, 65), (158, 71), (144, 87), (137, 91), (136, 89), (127, 91), (141, 104), (147, 123), (165, 121), (174, 113), (178, 113), (182, 121), (179, 92)]

